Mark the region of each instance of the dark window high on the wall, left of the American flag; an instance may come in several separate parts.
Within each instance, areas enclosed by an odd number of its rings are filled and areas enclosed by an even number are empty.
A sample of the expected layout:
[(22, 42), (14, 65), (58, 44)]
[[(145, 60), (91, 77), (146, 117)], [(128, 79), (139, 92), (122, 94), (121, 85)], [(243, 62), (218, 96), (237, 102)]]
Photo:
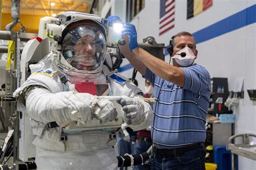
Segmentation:
[(126, 21), (131, 22), (132, 19), (144, 8), (145, 0), (127, 0), (126, 1)]

